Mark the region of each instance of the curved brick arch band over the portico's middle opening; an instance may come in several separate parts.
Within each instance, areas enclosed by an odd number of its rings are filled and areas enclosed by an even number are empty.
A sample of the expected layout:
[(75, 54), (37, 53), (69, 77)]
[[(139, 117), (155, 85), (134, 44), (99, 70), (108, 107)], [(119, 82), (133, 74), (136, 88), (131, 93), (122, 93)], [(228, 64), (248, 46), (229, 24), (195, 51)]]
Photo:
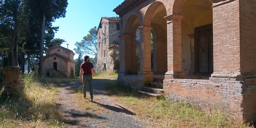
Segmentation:
[[(167, 14), (167, 10), (168, 9), (168, 5), (167, 2), (165, 0), (157, 0), (155, 2), (153, 2), (152, 4), (150, 4), (144, 12), (144, 19), (143, 19), (143, 26), (151, 26), (151, 20), (152, 20), (152, 16), (156, 10), (156, 8), (161, 5), (164, 4), (165, 7), (165, 12)], [(169, 12), (169, 11), (168, 11)]]

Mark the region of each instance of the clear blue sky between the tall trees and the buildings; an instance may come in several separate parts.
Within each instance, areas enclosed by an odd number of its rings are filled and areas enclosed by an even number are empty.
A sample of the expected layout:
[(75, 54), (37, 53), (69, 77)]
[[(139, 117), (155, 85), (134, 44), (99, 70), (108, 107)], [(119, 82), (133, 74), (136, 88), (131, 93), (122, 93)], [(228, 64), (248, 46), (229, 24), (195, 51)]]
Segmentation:
[[(68, 0), (66, 17), (52, 23), (52, 26), (60, 27), (54, 38), (64, 39), (66, 42), (61, 46), (73, 50), (75, 43), (83, 40), (91, 28), (99, 26), (101, 17), (118, 16), (113, 9), (122, 2), (124, 0)], [(77, 57), (76, 54), (74, 59)]]

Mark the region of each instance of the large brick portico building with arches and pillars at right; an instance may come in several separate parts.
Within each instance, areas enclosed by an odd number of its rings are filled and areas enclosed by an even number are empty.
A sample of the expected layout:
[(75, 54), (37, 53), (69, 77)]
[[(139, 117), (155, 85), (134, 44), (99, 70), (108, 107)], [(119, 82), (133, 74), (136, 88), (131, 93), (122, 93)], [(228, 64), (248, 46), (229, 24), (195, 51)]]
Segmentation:
[(120, 82), (141, 88), (162, 75), (168, 99), (256, 121), (254, 0), (125, 0), (114, 12), (120, 16)]

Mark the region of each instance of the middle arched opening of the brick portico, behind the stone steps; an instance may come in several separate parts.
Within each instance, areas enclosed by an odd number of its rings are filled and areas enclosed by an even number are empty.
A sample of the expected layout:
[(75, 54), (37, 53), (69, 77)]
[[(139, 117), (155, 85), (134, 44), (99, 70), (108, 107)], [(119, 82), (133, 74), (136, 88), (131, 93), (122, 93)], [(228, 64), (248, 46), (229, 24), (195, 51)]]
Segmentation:
[(143, 26), (152, 27), (150, 48), (151, 69), (154, 75), (164, 75), (167, 72), (167, 25), (164, 19), (166, 15), (164, 4), (154, 2), (149, 6), (143, 22)]

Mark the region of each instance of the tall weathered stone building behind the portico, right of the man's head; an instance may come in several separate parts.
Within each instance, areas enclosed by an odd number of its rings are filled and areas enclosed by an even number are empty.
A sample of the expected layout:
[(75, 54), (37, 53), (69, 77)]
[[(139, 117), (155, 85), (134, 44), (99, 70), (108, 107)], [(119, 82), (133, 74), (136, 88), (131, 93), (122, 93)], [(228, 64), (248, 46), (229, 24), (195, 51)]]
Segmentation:
[(97, 31), (97, 68), (112, 72), (119, 61), (119, 19), (102, 17)]

